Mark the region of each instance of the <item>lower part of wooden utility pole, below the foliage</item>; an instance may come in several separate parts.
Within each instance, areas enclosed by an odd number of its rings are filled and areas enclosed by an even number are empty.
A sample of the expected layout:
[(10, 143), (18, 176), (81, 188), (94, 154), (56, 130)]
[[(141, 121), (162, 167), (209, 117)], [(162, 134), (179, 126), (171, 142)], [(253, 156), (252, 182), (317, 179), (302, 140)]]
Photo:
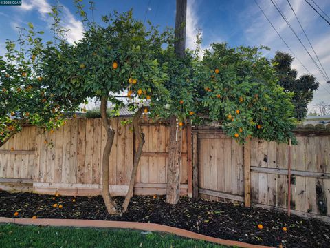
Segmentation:
[(176, 116), (170, 117), (170, 144), (168, 147), (166, 203), (177, 204), (180, 200), (182, 130)]

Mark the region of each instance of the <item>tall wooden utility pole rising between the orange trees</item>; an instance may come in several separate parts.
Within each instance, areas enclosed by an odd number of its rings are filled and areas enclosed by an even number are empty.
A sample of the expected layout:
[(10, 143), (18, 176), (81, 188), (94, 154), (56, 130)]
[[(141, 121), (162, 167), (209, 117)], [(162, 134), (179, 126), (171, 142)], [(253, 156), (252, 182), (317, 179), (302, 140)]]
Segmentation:
[[(175, 54), (185, 56), (186, 50), (187, 0), (177, 0), (175, 15)], [(177, 116), (170, 116), (170, 143), (168, 146), (167, 194), (166, 202), (177, 204), (180, 199), (182, 130)]]

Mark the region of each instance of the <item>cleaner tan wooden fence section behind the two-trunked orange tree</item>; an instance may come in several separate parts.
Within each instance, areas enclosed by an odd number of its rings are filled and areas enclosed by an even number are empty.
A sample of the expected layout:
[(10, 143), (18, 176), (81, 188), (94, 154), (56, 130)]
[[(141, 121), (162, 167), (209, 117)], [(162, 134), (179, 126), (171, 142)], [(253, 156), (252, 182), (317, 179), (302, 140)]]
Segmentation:
[[(131, 124), (122, 125), (122, 121), (126, 120), (114, 118), (111, 123), (116, 130), (109, 161), (109, 187), (113, 195), (126, 194), (133, 167), (135, 138)], [(142, 130), (146, 143), (135, 180), (135, 194), (166, 194), (168, 127), (144, 121)], [(187, 194), (186, 129), (183, 132), (181, 193)], [(105, 142), (106, 132), (100, 118), (73, 119), (56, 132), (24, 127), (0, 148), (0, 187), (12, 188), (15, 183), (19, 187), (23, 179), (24, 189), (33, 187), (39, 193), (100, 194)]]

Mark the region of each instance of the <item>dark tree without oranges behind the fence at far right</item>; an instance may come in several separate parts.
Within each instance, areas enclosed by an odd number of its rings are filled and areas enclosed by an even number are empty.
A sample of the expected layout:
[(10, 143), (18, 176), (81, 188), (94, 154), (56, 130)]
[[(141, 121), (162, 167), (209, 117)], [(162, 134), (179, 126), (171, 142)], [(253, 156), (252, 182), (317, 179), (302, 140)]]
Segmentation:
[(294, 116), (302, 120), (307, 115), (307, 105), (313, 100), (314, 91), (318, 90), (319, 83), (314, 75), (302, 75), (297, 78), (297, 71), (292, 69), (294, 58), (285, 52), (278, 51), (274, 59), (274, 69), (278, 77), (278, 84), (285, 92), (294, 92), (292, 103), (295, 106)]

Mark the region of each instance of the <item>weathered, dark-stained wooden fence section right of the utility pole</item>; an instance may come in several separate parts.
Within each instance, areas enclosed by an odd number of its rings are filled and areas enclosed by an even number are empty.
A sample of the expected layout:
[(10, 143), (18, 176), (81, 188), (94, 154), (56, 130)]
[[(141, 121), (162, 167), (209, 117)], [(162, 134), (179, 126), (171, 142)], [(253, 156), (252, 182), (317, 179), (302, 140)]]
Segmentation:
[[(329, 127), (296, 132), (291, 177), (295, 214), (330, 216)], [(197, 127), (192, 134), (193, 182), (201, 197), (287, 208), (288, 145), (251, 138), (241, 146), (212, 127)]]

